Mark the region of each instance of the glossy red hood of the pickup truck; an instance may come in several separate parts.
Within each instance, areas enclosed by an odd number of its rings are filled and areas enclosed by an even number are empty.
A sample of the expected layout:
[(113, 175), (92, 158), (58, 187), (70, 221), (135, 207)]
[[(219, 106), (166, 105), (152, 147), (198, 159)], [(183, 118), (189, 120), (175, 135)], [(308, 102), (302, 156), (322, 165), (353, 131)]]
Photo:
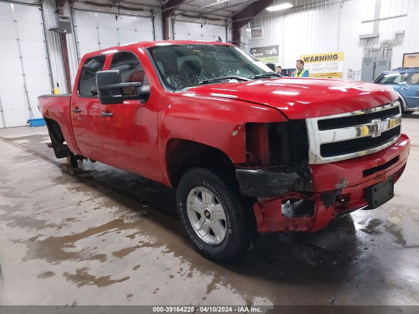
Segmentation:
[(265, 105), (280, 110), (292, 120), (357, 111), (398, 98), (392, 88), (378, 84), (294, 77), (198, 85), (187, 93)]

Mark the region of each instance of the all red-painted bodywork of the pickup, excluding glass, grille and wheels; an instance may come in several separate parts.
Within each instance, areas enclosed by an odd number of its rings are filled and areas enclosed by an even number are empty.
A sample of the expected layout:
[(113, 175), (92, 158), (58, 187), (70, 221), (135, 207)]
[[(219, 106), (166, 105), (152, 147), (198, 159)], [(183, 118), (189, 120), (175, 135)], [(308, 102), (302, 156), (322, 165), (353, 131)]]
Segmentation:
[[(217, 83), (192, 87), (184, 92), (164, 89), (145, 48), (166, 44), (208, 44), (208, 42), (141, 42), (85, 55), (86, 59), (106, 55), (104, 69), (112, 56), (130, 51), (140, 60), (150, 86), (145, 104), (125, 101), (101, 105), (97, 98), (83, 98), (73, 88), (71, 97), (40, 97), (39, 107), (45, 118), (58, 122), (70, 150), (116, 168), (124, 169), (171, 186), (166, 167), (166, 147), (171, 140), (184, 139), (206, 144), (224, 152), (233, 164), (246, 163), (245, 123), (286, 122), (372, 108), (397, 99), (393, 89), (375, 84), (328, 79), (276, 78), (239, 83)], [(229, 45), (214, 42), (214, 45)], [(79, 68), (75, 77), (78, 83)], [(143, 73), (141, 73), (143, 75)], [(77, 85), (76, 85), (77, 86)], [(73, 113), (71, 109), (80, 109)], [(112, 118), (101, 117), (111, 112)], [(263, 157), (265, 147), (260, 147)], [(260, 231), (318, 230), (342, 210), (365, 205), (362, 190), (391, 174), (401, 175), (409, 153), (409, 139), (375, 154), (323, 165), (310, 166), (315, 201), (315, 216), (287, 220), (278, 216), (282, 200), (305, 197), (293, 193), (255, 204)], [(382, 164), (399, 155), (399, 162), (368, 178), (362, 170)], [(348, 183), (342, 194), (350, 195), (347, 209), (339, 204), (324, 208), (319, 193), (336, 189), (342, 177)], [(378, 179), (376, 178), (378, 177)], [(345, 206), (344, 206), (345, 207)], [(269, 218), (269, 219), (268, 219)]]

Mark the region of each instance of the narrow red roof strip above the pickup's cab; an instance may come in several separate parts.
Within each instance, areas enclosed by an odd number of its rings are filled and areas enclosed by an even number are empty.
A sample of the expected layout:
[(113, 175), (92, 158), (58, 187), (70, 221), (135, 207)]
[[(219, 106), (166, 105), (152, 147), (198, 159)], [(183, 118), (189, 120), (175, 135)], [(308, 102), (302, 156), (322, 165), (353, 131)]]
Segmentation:
[(160, 40), (160, 41), (145, 41), (145, 42), (135, 42), (129, 43), (120, 46), (109, 47), (101, 50), (92, 51), (84, 55), (84, 57), (93, 57), (98, 54), (113, 54), (117, 51), (131, 50), (132, 48), (150, 48), (155, 46), (170, 46), (170, 45), (192, 45), (192, 44), (203, 44), (203, 45), (228, 45), (233, 46), (232, 44), (222, 43), (222, 42), (208, 42), (208, 41), (194, 41), (194, 40)]

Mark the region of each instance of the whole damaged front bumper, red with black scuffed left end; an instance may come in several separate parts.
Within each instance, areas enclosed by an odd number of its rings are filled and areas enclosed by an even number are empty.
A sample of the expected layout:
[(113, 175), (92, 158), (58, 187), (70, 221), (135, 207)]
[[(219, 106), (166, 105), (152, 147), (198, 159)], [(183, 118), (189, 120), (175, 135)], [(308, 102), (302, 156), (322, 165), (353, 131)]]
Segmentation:
[(393, 145), (362, 157), (319, 165), (237, 168), (236, 177), (242, 195), (264, 198), (253, 205), (259, 232), (314, 232), (336, 217), (374, 208), (366, 191), (389, 178), (397, 182), (409, 149), (410, 140), (402, 134)]

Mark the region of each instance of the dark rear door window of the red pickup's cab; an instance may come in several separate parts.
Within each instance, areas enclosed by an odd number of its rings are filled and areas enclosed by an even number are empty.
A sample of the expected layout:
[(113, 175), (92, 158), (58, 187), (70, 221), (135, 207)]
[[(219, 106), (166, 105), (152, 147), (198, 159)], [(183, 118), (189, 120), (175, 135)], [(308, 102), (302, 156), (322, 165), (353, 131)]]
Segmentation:
[(104, 55), (87, 59), (81, 69), (78, 93), (83, 97), (98, 97), (96, 72), (102, 71), (106, 57)]

